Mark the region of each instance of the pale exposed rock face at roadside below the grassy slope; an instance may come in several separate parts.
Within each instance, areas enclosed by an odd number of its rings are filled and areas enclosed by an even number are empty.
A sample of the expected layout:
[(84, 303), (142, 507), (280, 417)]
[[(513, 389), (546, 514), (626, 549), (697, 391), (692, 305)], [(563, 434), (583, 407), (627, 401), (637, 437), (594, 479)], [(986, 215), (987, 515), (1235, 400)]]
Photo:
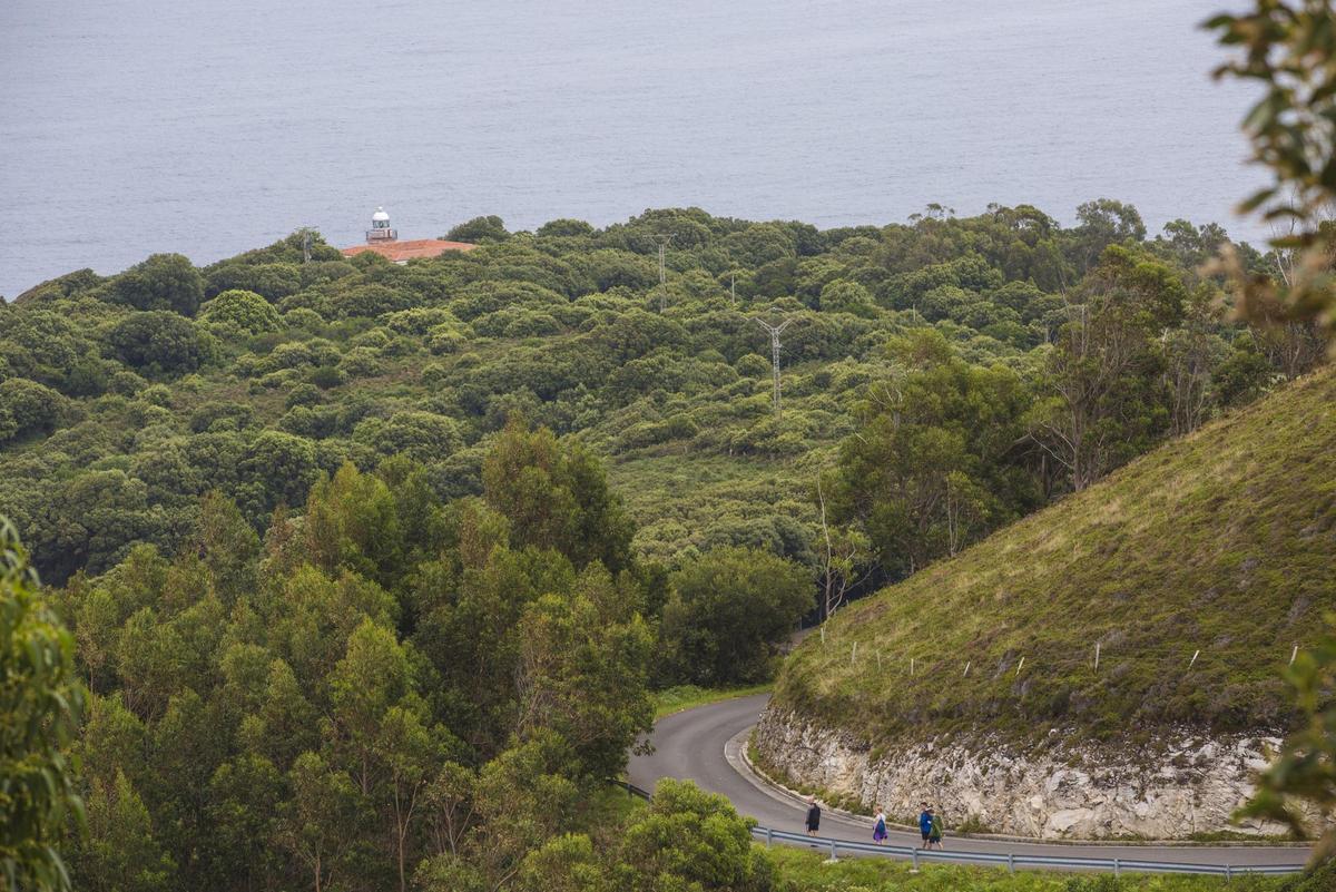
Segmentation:
[(951, 827), (1042, 839), (1185, 839), (1234, 831), (1279, 835), (1273, 824), (1233, 825), (1272, 737), (1184, 734), (1156, 748), (1051, 746), (1018, 753), (986, 741), (915, 741), (874, 752), (852, 736), (770, 708), (754, 744), (776, 780), (880, 804), (900, 820), (930, 801)]

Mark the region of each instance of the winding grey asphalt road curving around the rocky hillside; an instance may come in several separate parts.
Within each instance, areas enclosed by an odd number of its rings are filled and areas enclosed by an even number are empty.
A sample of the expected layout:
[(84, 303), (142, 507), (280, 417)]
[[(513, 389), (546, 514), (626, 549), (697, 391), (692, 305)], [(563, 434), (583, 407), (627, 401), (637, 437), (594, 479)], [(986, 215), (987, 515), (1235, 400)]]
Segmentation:
[[(655, 752), (633, 756), (628, 768), (631, 783), (652, 791), (660, 777), (692, 780), (700, 787), (723, 793), (743, 815), (755, 817), (762, 827), (776, 831), (803, 832), (804, 805), (755, 778), (740, 773), (724, 756), (732, 741), (736, 749), (745, 737), (743, 732), (756, 724), (770, 694), (739, 697), (708, 706), (688, 709), (655, 725)], [(733, 760), (736, 762), (736, 758)], [(872, 821), (850, 820), (822, 813), (823, 837), (870, 841)], [(892, 831), (890, 843), (918, 845), (916, 833)], [(1053, 855), (1067, 857), (1118, 857), (1148, 861), (1182, 861), (1192, 864), (1230, 864), (1234, 867), (1264, 864), (1303, 864), (1308, 849), (1293, 847), (1181, 847), (1181, 845), (1054, 845), (1043, 843), (1013, 843), (1002, 840), (965, 840), (947, 835), (946, 847), (969, 852), (1025, 852), (1026, 855)]]

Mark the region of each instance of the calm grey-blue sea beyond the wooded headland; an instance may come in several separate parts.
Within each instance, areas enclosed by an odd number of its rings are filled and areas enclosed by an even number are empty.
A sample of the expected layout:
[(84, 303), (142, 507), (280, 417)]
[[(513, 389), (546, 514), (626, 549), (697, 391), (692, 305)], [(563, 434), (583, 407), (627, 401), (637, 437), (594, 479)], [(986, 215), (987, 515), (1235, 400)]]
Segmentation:
[(302, 224), (1089, 198), (1256, 238), (1229, 0), (0, 0), (0, 294)]

